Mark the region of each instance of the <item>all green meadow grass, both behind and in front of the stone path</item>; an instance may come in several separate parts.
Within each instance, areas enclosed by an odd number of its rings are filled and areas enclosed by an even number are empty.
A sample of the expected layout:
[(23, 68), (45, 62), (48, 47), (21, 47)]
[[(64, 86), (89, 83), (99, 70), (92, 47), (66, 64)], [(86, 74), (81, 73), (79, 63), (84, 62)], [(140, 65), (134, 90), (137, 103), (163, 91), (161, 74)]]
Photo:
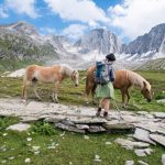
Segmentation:
[[(130, 111), (165, 111), (165, 105), (157, 103), (156, 99), (164, 98), (165, 91), (165, 72), (139, 72), (153, 86), (155, 92), (152, 102), (147, 103), (140, 90), (133, 88), (131, 91), (131, 100), (128, 110)], [(85, 76), (85, 72), (80, 72), (80, 78)], [(0, 98), (21, 97), (22, 78), (0, 78)], [(43, 101), (52, 101), (53, 85), (38, 85), (38, 94)], [(65, 105), (81, 106), (84, 101), (85, 80), (80, 79), (78, 88), (74, 87), (70, 79), (64, 80), (59, 89), (59, 101)], [(116, 98), (121, 108), (121, 94), (116, 90)], [(34, 100), (32, 88), (29, 88), (29, 99)], [(91, 105), (89, 105), (91, 106)], [(82, 134), (65, 132), (56, 130), (51, 123), (36, 122), (32, 124), (32, 129), (28, 132), (18, 133), (6, 131), (10, 124), (19, 122), (18, 118), (0, 118), (0, 164), (7, 161), (8, 165), (25, 164), (25, 158), (31, 158), (33, 165), (123, 165), (125, 161), (133, 160), (135, 165), (142, 160), (150, 165), (161, 165), (161, 156), (165, 150), (160, 146), (151, 146), (154, 152), (146, 157), (138, 157), (133, 151), (128, 151), (118, 145), (114, 140), (117, 138), (127, 138), (125, 134), (88, 134), (89, 140), (85, 140)], [(7, 136), (3, 136), (8, 133)], [(32, 138), (31, 142), (26, 138)], [(106, 145), (106, 142), (112, 144)], [(52, 143), (58, 144), (55, 148), (47, 148)], [(35, 155), (32, 146), (40, 146), (40, 154)], [(6, 151), (3, 151), (3, 147)], [(95, 155), (99, 155), (101, 163), (96, 163)], [(13, 160), (10, 157), (14, 156)]]

